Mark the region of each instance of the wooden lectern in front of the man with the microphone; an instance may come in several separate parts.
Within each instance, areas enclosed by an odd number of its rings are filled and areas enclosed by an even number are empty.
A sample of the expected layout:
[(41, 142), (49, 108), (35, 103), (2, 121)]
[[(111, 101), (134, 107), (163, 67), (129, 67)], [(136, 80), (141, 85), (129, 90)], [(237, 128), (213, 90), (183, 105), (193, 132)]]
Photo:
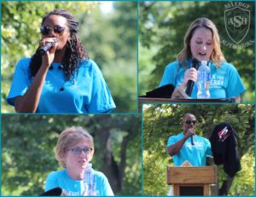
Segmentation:
[(217, 183), (217, 166), (167, 166), (167, 184), (174, 195), (210, 195), (210, 185)]

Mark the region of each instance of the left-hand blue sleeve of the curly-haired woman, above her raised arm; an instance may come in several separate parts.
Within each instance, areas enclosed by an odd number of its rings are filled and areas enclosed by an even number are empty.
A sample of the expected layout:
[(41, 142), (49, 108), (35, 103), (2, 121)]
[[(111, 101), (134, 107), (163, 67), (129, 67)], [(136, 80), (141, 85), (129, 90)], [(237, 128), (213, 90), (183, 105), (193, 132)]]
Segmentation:
[(7, 102), (9, 105), (15, 106), (15, 98), (17, 96), (23, 96), (28, 89), (30, 82), (27, 74), (28, 65), (30, 59), (21, 59), (17, 66), (15, 67), (15, 74), (11, 88), (9, 90), (9, 95), (7, 96)]

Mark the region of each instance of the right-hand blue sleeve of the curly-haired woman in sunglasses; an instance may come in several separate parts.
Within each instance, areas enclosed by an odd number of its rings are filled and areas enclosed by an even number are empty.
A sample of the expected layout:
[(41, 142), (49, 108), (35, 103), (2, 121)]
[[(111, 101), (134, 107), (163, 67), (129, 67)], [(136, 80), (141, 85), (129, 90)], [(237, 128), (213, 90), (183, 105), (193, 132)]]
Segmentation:
[(115, 108), (113, 98), (102, 72), (96, 63), (92, 61), (93, 78), (90, 104), (87, 106), (89, 113), (109, 113)]

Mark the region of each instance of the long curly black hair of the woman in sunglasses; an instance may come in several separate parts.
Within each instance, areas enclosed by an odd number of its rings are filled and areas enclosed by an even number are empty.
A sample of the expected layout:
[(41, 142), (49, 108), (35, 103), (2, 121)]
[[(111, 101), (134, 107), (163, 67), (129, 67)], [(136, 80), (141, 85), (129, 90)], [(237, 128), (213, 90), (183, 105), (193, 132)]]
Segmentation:
[[(73, 77), (74, 72), (78, 72), (77, 68), (79, 67), (79, 62), (83, 59), (89, 58), (87, 51), (83, 48), (82, 43), (79, 40), (79, 22), (73, 17), (73, 14), (68, 11), (64, 9), (55, 9), (44, 16), (41, 25), (44, 24), (44, 20), (46, 20), (50, 15), (61, 15), (67, 19), (67, 26), (71, 39), (67, 42), (66, 52), (61, 65), (63, 66), (62, 70), (65, 74), (66, 80), (69, 80)], [(41, 64), (42, 56), (38, 55), (36, 52), (32, 55), (32, 60), (29, 65), (32, 77), (37, 74)]]

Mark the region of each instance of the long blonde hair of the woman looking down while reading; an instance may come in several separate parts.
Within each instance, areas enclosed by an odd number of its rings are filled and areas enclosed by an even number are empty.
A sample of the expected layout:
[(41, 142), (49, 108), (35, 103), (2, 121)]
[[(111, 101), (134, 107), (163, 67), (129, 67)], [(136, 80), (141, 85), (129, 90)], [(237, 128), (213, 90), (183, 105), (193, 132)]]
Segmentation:
[(220, 49), (220, 42), (219, 42), (217, 27), (214, 25), (212, 20), (209, 20), (207, 18), (196, 19), (189, 26), (189, 29), (186, 32), (186, 35), (184, 37), (184, 47), (178, 53), (177, 61), (178, 61), (178, 63), (182, 63), (184, 65), (184, 67), (187, 67), (186, 59), (188, 57), (192, 58), (192, 53), (191, 53), (191, 49), (190, 49), (190, 40), (193, 37), (195, 30), (199, 27), (205, 27), (205, 28), (211, 30), (213, 50), (212, 50), (212, 55), (210, 56), (210, 60), (216, 65), (216, 67), (219, 67), (225, 61), (225, 58)]

